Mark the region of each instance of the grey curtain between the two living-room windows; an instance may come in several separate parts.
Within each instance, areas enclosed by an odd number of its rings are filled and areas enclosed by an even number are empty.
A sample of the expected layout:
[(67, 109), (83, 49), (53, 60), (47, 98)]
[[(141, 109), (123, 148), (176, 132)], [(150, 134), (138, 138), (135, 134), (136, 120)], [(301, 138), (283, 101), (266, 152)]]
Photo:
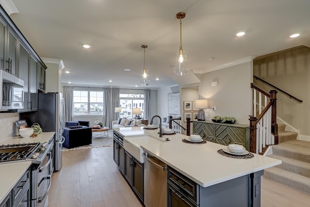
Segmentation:
[(104, 88), (103, 100), (103, 126), (112, 128), (112, 121), (117, 119), (118, 114), (115, 113), (115, 107), (120, 107), (120, 89)]

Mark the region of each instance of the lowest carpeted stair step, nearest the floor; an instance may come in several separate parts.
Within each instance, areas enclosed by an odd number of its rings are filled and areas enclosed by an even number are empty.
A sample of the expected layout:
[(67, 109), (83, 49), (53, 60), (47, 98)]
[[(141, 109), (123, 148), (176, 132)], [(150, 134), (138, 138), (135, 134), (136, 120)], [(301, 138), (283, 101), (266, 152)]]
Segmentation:
[(263, 177), (310, 195), (309, 177), (297, 175), (277, 167), (265, 169)]

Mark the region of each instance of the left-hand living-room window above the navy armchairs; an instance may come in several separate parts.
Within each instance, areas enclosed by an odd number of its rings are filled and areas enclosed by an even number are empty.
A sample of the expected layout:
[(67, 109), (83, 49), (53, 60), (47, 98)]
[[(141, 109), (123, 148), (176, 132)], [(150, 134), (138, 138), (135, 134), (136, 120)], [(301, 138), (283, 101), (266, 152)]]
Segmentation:
[(73, 91), (74, 116), (103, 114), (103, 91)]

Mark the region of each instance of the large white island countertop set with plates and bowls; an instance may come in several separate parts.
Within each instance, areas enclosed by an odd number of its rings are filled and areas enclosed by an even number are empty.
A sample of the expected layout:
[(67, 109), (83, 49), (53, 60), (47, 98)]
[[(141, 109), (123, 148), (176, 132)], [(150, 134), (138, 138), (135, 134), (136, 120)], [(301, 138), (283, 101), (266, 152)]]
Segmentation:
[[(138, 131), (138, 128), (143, 132), (139, 132), (139, 136), (133, 136), (133, 131)], [(225, 157), (217, 153), (217, 150), (226, 146), (211, 142), (204, 144), (183, 143), (182, 139), (188, 138), (188, 136), (182, 134), (164, 135), (163, 138), (169, 137), (171, 141), (159, 141), (151, 137), (159, 138), (158, 131), (158, 129), (150, 130), (137, 127), (130, 132), (126, 131), (125, 134), (131, 135), (125, 136), (124, 139), (140, 146), (146, 152), (151, 153), (202, 187), (215, 185), (281, 164), (281, 160), (254, 153), (254, 158), (251, 159)], [(122, 133), (121, 130), (119, 132)]]

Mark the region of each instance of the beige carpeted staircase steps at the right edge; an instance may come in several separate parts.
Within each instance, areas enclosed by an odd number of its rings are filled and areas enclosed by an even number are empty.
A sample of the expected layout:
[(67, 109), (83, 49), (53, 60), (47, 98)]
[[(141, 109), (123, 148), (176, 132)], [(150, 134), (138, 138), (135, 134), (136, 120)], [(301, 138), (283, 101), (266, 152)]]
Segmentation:
[(267, 157), (280, 159), (282, 164), (265, 169), (263, 177), (310, 195), (310, 142), (282, 141), (272, 151)]

